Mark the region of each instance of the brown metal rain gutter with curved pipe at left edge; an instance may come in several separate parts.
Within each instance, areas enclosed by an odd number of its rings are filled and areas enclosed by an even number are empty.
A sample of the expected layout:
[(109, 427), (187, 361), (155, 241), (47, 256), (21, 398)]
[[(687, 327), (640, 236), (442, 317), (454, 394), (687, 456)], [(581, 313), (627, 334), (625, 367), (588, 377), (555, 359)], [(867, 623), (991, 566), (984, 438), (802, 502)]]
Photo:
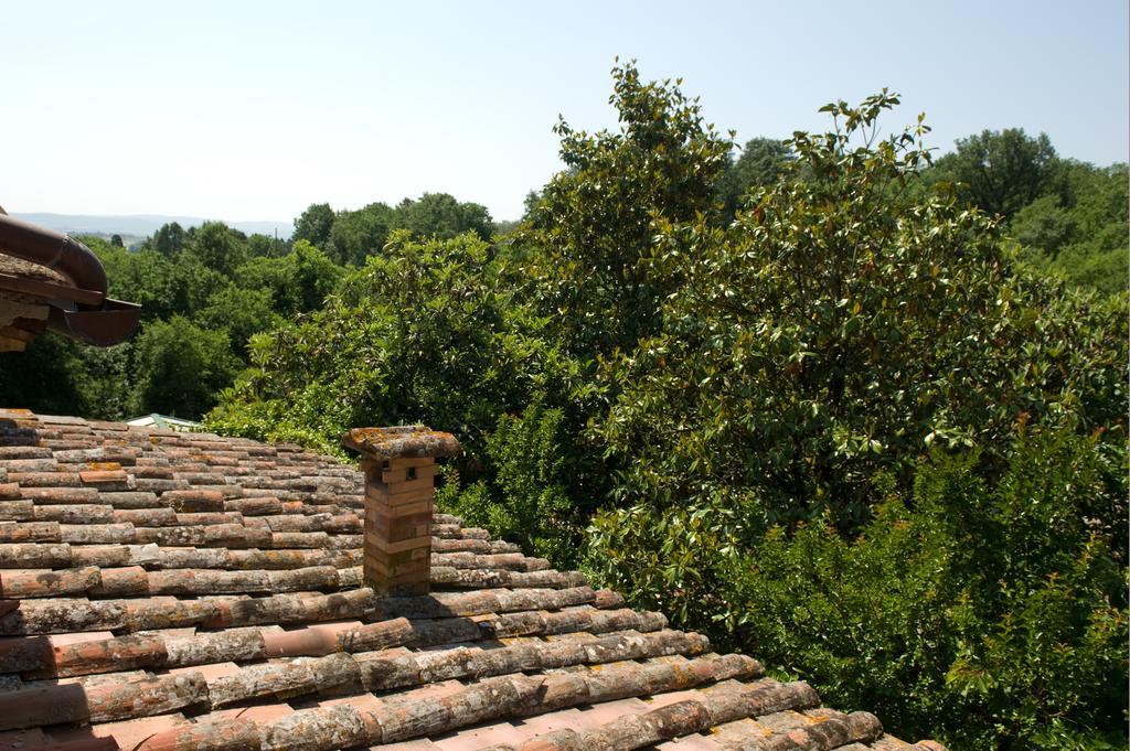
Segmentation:
[(77, 239), (0, 212), (0, 253), (52, 269), (77, 289), (0, 279), (0, 288), (46, 297), (47, 328), (90, 344), (125, 341), (141, 320), (141, 306), (106, 297), (106, 271), (94, 251)]

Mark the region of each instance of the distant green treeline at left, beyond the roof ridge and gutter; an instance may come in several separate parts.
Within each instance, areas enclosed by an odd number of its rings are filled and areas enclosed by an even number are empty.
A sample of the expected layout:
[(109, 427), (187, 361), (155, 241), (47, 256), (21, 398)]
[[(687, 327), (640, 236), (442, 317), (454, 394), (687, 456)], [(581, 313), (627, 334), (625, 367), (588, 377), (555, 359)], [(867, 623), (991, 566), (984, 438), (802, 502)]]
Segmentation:
[(312, 206), (288, 241), (219, 221), (165, 225), (132, 251), (116, 237), (85, 236), (111, 296), (142, 306), (140, 331), (106, 349), (40, 337), (26, 352), (0, 359), (0, 393), (6, 403), (46, 413), (199, 419), (247, 367), (254, 334), (320, 308), (348, 265), (383, 247), (391, 232), (488, 238), (494, 229), (484, 207), (425, 193), (395, 208)]

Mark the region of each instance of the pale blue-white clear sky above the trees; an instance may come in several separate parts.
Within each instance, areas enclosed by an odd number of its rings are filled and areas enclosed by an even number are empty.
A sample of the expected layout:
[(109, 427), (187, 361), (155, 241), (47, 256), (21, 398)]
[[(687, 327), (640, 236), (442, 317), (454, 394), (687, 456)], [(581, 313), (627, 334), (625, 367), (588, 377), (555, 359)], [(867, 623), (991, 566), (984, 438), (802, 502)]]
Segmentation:
[(615, 126), (614, 59), (738, 140), (886, 86), (932, 146), (1046, 132), (1128, 158), (1128, 3), (0, 0), (0, 204), (289, 220), (425, 191), (521, 215), (551, 132)]

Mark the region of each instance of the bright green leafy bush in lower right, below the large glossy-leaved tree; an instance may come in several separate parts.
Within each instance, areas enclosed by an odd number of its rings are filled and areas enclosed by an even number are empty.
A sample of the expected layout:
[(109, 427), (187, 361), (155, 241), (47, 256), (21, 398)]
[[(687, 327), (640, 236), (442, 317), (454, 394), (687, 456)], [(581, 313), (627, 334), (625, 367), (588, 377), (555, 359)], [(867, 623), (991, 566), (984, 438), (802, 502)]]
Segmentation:
[(736, 559), (727, 627), (896, 734), (1124, 746), (1127, 571), (1088, 524), (1119, 513), (1103, 478), (1123, 468), (1103, 463), (1094, 439), (1063, 431), (1018, 437), (996, 483), (977, 452), (936, 452), (913, 497), (888, 494), (855, 540), (779, 527)]

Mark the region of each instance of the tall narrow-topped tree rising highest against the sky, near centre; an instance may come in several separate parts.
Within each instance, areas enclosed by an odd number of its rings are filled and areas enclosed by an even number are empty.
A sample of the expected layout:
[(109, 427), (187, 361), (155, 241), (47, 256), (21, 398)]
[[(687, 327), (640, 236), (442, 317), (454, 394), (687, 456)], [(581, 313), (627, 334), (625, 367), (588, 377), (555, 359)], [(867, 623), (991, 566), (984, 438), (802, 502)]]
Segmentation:
[(614, 68), (612, 80), (619, 131), (558, 122), (566, 169), (542, 190), (524, 235), (539, 248), (541, 309), (584, 357), (631, 348), (658, 328), (675, 280), (649, 263), (653, 221), (711, 212), (731, 148), (680, 81), (642, 82), (634, 64)]

